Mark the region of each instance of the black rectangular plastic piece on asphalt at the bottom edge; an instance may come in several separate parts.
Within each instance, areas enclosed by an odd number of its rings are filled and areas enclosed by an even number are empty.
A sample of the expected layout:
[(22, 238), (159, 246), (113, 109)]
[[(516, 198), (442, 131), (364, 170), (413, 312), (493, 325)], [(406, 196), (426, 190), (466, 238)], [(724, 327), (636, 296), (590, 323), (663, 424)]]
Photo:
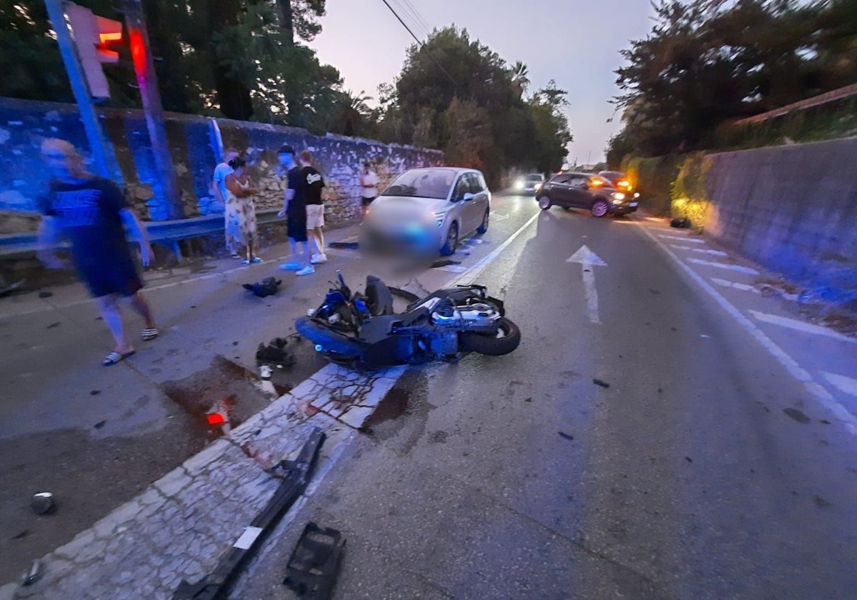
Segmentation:
[(327, 600), (333, 597), (343, 549), (345, 538), (339, 531), (319, 527), (310, 521), (291, 553), (283, 585), (299, 598)]

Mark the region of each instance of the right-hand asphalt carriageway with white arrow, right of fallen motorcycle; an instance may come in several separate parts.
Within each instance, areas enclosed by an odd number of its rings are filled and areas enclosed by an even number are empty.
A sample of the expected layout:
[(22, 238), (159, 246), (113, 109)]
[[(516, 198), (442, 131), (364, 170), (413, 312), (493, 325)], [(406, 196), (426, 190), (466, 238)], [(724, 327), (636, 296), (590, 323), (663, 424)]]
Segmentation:
[[(567, 262), (584, 244), (606, 263), (588, 267), (595, 319)], [(480, 277), (518, 351), (406, 374), (388, 399), (404, 414), (358, 438), (232, 597), (291, 598), (312, 519), (348, 540), (338, 598), (854, 598), (854, 340), (750, 321), (800, 315), (714, 290), (764, 275), (687, 261), (704, 249), (542, 213)]]

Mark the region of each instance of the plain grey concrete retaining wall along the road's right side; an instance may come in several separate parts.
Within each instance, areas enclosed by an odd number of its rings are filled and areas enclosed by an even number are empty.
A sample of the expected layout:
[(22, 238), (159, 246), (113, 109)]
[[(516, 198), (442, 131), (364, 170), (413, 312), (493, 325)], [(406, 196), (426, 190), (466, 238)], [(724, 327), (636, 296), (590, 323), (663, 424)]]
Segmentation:
[(706, 233), (857, 308), (857, 138), (710, 159)]

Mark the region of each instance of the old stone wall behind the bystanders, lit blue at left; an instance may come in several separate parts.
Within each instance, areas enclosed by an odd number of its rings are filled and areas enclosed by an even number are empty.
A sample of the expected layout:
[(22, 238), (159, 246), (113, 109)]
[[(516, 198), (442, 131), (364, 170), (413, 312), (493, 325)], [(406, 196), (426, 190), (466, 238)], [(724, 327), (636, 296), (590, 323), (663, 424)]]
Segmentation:
[[(166, 210), (154, 165), (142, 111), (99, 110), (102, 128), (117, 156), (117, 183), (144, 219), (166, 219)], [(280, 207), (284, 179), (277, 173), (277, 149), (290, 144), (298, 152), (309, 150), (325, 175), (327, 218), (333, 225), (360, 214), (357, 176), (369, 160), (381, 187), (400, 172), (417, 166), (441, 165), (436, 150), (386, 145), (378, 141), (339, 135), (309, 135), (304, 129), (264, 123), (246, 123), (194, 115), (167, 113), (167, 138), (182, 191), (185, 216), (222, 213), (213, 201), (211, 176), (219, 130), (224, 147), (236, 147), (249, 160), (249, 175), (260, 194), (257, 207)], [(45, 137), (69, 140), (89, 157), (89, 145), (75, 105), (0, 98), (0, 233), (32, 231), (33, 212), (48, 183), (39, 156)]]

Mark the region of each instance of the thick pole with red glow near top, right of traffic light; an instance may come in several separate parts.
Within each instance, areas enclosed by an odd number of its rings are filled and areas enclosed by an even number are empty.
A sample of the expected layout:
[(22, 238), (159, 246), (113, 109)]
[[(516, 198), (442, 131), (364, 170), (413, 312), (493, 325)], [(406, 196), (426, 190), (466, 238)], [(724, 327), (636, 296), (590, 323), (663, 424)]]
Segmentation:
[(182, 219), (184, 217), (182, 195), (176, 184), (176, 173), (173, 170), (170, 146), (166, 139), (164, 107), (160, 102), (158, 77), (155, 75), (152, 50), (149, 47), (149, 35), (140, 0), (123, 0), (123, 12), (125, 24), (128, 27), (134, 72), (137, 75), (137, 85), (140, 87), (143, 111), (146, 113), (149, 140), (152, 143), (155, 172), (167, 201), (170, 219)]

